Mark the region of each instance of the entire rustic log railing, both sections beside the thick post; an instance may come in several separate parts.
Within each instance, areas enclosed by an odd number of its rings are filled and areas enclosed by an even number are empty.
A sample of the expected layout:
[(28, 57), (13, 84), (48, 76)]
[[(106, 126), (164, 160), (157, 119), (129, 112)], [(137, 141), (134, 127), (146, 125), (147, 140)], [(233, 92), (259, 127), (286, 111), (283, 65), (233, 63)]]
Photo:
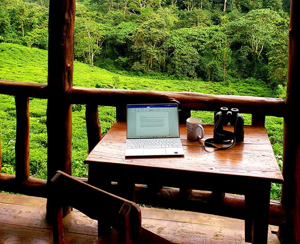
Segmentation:
[[(15, 175), (0, 173), (0, 190), (26, 194), (29, 196), (47, 197), (46, 180), (32, 178), (29, 175), (29, 97), (47, 99), (47, 85), (14, 82), (0, 80), (0, 93), (15, 97), (16, 106), (16, 144), (15, 144)], [(118, 89), (98, 89), (70, 87), (64, 95), (66, 104), (86, 105), (86, 129), (88, 148), (91, 150), (100, 140), (100, 122), (98, 120), (98, 105), (116, 107), (116, 119), (125, 119), (125, 106), (129, 103), (157, 103), (177, 102), (180, 109), (180, 120), (183, 122), (190, 116), (191, 110), (217, 111), (221, 106), (237, 107), (241, 113), (252, 115), (253, 125), (264, 125), (265, 116), (284, 117), (285, 102), (282, 99), (231, 96), (231, 95), (209, 95), (193, 92), (162, 92), (162, 91), (138, 91)], [(1, 121), (0, 121), (1, 123)], [(48, 122), (47, 122), (48, 123)], [(49, 143), (49, 142), (48, 142)], [(67, 157), (65, 155), (64, 157)], [(48, 162), (49, 164), (49, 162)], [(62, 163), (63, 164), (63, 163)], [(56, 167), (56, 168), (55, 168)], [(71, 172), (71, 165), (54, 165), (48, 167), (48, 176), (54, 174), (61, 168)], [(81, 179), (85, 180), (86, 179)], [(136, 198), (144, 204), (155, 205), (151, 197), (147, 196), (145, 187), (137, 186)], [(176, 190), (172, 196), (160, 193), (158, 201), (160, 207), (176, 206)], [(214, 198), (215, 199), (215, 198)], [(228, 217), (242, 218), (244, 199), (242, 197), (226, 195), (220, 198), (218, 208), (211, 205), (212, 196), (209, 193), (197, 192), (189, 197), (181, 207), (186, 210), (216, 213)], [(285, 215), (278, 201), (270, 203), (269, 223), (273, 225), (284, 225)]]

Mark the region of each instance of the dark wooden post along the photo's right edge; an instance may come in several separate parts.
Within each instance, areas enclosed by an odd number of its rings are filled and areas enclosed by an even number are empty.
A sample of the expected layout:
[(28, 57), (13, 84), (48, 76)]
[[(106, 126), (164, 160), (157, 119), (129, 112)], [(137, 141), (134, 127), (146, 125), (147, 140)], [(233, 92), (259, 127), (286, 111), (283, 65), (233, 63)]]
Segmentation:
[(300, 243), (300, 126), (295, 116), (297, 105), (300, 104), (299, 10), (300, 2), (291, 0), (286, 89), (287, 113), (284, 117), (283, 131), (282, 205), (286, 210), (286, 225), (285, 228), (280, 228), (279, 232), (282, 244)]

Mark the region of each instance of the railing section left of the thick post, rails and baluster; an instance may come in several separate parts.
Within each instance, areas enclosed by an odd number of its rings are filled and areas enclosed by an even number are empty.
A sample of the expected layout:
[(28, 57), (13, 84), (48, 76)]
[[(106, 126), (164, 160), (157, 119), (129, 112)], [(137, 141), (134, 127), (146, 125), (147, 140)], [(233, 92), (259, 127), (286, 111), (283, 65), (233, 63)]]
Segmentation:
[(29, 176), (29, 97), (47, 98), (46, 90), (44, 84), (0, 80), (0, 93), (14, 96), (16, 110), (15, 175), (0, 172), (0, 190), (47, 196), (46, 180)]

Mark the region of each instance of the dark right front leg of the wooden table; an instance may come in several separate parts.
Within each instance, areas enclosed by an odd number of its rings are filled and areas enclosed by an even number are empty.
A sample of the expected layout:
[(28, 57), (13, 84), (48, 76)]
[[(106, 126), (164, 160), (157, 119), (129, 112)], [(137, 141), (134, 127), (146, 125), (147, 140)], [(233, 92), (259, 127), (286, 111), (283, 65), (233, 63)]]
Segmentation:
[(245, 242), (266, 244), (270, 184), (257, 184), (245, 195)]

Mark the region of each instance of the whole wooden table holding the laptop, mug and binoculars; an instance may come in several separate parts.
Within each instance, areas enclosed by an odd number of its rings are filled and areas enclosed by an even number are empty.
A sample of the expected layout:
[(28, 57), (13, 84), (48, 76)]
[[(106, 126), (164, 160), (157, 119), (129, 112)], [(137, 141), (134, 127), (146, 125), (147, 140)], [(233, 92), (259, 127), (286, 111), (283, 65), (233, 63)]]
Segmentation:
[[(231, 126), (228, 126), (230, 128)], [(206, 138), (213, 125), (203, 125)], [(244, 141), (215, 151), (203, 141), (186, 139), (180, 125), (184, 157), (125, 158), (126, 123), (116, 122), (85, 159), (88, 182), (103, 190), (115, 181), (124, 198), (134, 201), (134, 184), (157, 184), (184, 189), (245, 196), (245, 242), (267, 243), (270, 184), (283, 178), (266, 131), (244, 126)]]

